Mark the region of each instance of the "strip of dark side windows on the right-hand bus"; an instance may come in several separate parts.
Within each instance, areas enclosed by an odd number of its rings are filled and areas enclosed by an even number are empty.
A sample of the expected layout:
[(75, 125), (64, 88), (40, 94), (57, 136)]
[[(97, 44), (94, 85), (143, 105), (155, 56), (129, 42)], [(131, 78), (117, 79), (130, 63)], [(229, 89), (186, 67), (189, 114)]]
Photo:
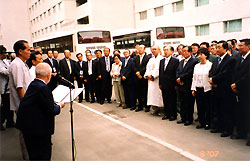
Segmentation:
[(135, 47), (135, 44), (143, 44), (145, 47), (151, 46), (151, 31), (144, 31), (132, 34), (126, 34), (122, 36), (115, 36), (114, 39), (114, 48), (115, 49), (132, 49)]

